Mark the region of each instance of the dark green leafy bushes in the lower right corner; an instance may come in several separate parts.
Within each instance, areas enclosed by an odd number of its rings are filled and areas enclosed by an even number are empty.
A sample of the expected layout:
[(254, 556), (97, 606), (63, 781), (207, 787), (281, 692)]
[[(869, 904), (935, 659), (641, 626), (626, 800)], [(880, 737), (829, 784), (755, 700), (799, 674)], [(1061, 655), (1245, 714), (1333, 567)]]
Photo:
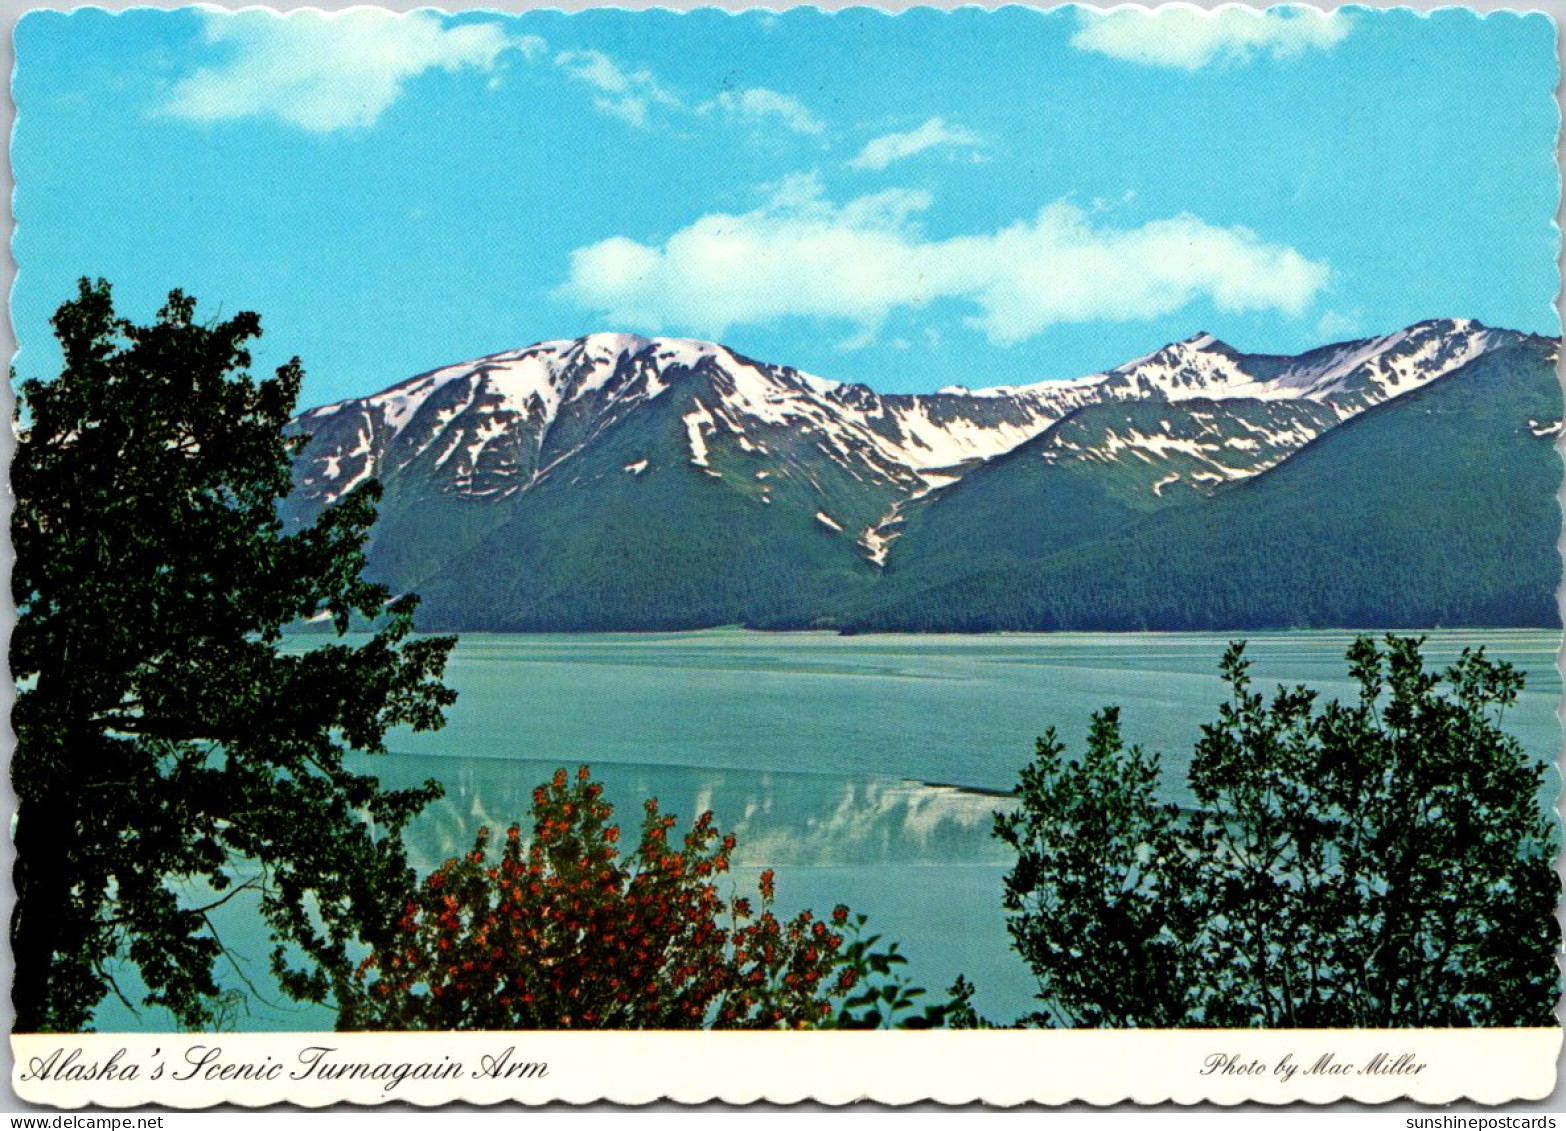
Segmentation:
[(1355, 702), (1251, 689), (1203, 727), (1192, 813), (1157, 760), (1093, 719), (1066, 761), (1040, 739), (996, 835), (1005, 905), (1046, 1010), (1070, 1026), (1555, 1024), (1560, 930), (1543, 766), (1500, 728), (1522, 675), (1420, 641), (1348, 650)]

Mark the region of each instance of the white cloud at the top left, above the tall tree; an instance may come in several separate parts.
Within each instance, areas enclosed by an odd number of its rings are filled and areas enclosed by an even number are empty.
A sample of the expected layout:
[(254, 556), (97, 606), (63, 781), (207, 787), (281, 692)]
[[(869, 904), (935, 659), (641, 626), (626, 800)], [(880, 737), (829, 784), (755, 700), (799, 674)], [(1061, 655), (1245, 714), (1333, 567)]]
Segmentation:
[(423, 11), (279, 16), (247, 8), (205, 9), (202, 19), (207, 42), (229, 58), (180, 78), (163, 111), (197, 122), (271, 116), (316, 133), (374, 125), (402, 85), (426, 70), (487, 72), (503, 52), (543, 49), (542, 39), (507, 36), (500, 23), (446, 27)]

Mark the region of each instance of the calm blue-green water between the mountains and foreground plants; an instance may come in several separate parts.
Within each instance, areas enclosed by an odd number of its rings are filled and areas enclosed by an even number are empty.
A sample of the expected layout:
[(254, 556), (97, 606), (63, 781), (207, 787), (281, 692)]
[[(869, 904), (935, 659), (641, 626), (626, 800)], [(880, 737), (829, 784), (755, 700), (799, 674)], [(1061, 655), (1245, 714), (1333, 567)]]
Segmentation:
[[(413, 826), (417, 866), (473, 844), (479, 826), (526, 824), (536, 785), (592, 766), (634, 827), (656, 796), (681, 824), (711, 808), (739, 838), (736, 883), (778, 873), (780, 910), (847, 902), (900, 941), (933, 996), (966, 973), (977, 1004), (1009, 1021), (1032, 979), (1001, 912), (1004, 846), (990, 837), (1034, 739), (1054, 725), (1082, 747), (1088, 716), (1121, 708), (1128, 741), (1164, 755), (1167, 799), (1189, 802), (1185, 768), (1225, 696), (1229, 636), (861, 636), (709, 631), (651, 636), (465, 636), (445, 730), (401, 735), (377, 760), (387, 785), (438, 779), (446, 796)], [(1259, 688), (1306, 683), (1348, 699), (1351, 633), (1257, 633)], [(1560, 677), (1550, 631), (1439, 631), (1427, 661), (1486, 645), (1528, 675), (1508, 728), (1553, 763)], [(1550, 780), (1553, 796), (1555, 782)], [(236, 912), (229, 932), (255, 935)], [(254, 945), (251, 945), (254, 943)], [(249, 973), (266, 945), (249, 938)], [(155, 1026), (105, 1007), (100, 1028)], [(252, 1001), (240, 1029), (330, 1028), (326, 1012)]]

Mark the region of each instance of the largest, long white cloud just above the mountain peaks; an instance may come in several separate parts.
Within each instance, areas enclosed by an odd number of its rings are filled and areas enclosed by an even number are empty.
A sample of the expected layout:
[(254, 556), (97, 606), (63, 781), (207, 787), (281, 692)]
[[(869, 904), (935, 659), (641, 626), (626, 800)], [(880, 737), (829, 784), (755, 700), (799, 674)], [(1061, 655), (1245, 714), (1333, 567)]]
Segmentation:
[(796, 175), (760, 208), (702, 216), (661, 246), (614, 237), (579, 248), (557, 293), (615, 324), (708, 337), (788, 316), (849, 321), (850, 345), (872, 340), (894, 310), (958, 299), (972, 307), (968, 324), (1010, 345), (1198, 299), (1300, 315), (1328, 276), (1242, 227), (1179, 215), (1117, 229), (1065, 201), (998, 232), (930, 240), (918, 218), (932, 204), (894, 188), (836, 205), (814, 175)]

